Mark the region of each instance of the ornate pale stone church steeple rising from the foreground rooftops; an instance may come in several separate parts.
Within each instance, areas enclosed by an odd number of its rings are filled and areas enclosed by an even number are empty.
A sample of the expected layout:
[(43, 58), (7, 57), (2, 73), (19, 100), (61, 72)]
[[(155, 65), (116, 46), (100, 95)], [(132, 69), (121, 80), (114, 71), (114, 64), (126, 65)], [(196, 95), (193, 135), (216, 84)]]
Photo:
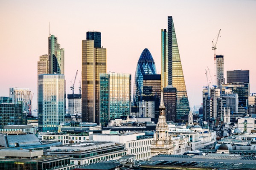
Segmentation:
[(163, 90), (159, 106), (159, 118), (156, 126), (154, 140), (151, 143), (151, 156), (158, 154), (172, 154), (174, 147), (169, 136), (169, 128), (166, 123), (165, 106), (163, 103)]

